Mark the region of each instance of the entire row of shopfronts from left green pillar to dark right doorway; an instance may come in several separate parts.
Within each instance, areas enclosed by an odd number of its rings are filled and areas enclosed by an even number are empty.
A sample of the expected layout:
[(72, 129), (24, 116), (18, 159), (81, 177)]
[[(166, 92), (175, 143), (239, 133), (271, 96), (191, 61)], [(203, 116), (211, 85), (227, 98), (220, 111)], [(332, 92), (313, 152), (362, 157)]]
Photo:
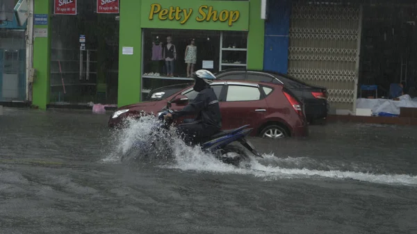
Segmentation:
[[(48, 17), (33, 26), (33, 105), (122, 106), (156, 87), (192, 82), (190, 67), (246, 67), (327, 87), (332, 110), (354, 114), (361, 85), (378, 85), (381, 94), (417, 75), (417, 10), (406, 0), (268, 1), (267, 19), (263, 0), (108, 2), (117, 5), (34, 1), (35, 17)], [(174, 62), (163, 52), (167, 39)]]

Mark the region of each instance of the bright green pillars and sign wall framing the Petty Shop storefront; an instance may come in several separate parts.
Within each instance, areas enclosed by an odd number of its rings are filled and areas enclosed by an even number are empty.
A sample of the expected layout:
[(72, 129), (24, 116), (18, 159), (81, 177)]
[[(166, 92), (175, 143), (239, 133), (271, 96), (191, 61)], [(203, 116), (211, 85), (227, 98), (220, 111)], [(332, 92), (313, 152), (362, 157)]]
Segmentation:
[[(35, 1), (35, 14), (51, 15), (50, 9), (50, 0)], [(218, 15), (208, 17), (210, 9), (217, 10)], [(45, 27), (49, 31), (49, 25), (35, 27)], [(265, 22), (261, 19), (261, 0), (120, 1), (117, 106), (140, 101), (142, 28), (248, 31), (247, 68), (262, 69), (264, 25)], [(38, 71), (38, 78), (33, 83), (33, 106), (38, 106), (40, 109), (46, 109), (49, 103), (50, 45), (51, 35), (35, 38), (33, 45), (33, 66)], [(133, 47), (133, 54), (124, 54), (124, 47)]]

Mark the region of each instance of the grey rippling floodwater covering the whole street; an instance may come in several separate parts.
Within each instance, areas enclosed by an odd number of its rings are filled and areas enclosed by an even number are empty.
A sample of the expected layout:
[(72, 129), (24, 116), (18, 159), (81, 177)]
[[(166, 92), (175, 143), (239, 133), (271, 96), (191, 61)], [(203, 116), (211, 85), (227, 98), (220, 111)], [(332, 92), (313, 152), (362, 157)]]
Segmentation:
[(3, 108), (0, 233), (417, 233), (417, 128), (251, 138), (251, 170), (180, 142), (173, 161), (121, 163), (145, 128), (109, 115)]

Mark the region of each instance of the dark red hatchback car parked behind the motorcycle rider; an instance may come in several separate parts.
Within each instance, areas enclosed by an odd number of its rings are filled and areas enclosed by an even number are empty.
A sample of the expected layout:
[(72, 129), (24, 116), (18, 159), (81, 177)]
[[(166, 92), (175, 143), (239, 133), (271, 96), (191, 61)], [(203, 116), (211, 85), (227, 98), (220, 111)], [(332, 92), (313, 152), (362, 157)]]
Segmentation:
[[(254, 128), (252, 136), (275, 139), (308, 135), (301, 102), (281, 84), (222, 80), (213, 82), (211, 87), (219, 99), (223, 131), (250, 124)], [(197, 92), (190, 86), (160, 101), (122, 106), (113, 112), (108, 126), (119, 126), (126, 117), (139, 117), (141, 112), (158, 115), (174, 97), (176, 101), (171, 108), (180, 110), (196, 96)]]

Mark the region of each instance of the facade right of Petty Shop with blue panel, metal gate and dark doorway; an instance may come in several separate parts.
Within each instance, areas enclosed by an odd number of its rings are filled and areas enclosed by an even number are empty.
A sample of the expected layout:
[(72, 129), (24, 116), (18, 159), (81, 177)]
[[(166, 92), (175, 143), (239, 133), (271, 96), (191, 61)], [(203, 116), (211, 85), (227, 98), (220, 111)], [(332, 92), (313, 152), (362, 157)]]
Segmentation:
[(327, 87), (333, 113), (354, 115), (358, 98), (390, 98), (399, 83), (417, 97), (415, 1), (268, 3), (264, 69)]

